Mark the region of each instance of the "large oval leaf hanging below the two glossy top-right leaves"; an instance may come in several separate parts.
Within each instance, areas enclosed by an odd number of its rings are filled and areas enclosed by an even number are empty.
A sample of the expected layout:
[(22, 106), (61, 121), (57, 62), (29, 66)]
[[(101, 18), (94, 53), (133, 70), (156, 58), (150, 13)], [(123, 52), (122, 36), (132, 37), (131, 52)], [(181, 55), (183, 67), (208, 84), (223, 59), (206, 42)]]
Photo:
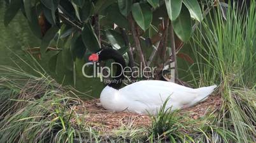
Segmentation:
[(173, 21), (175, 34), (184, 42), (190, 39), (192, 34), (192, 22), (187, 8), (182, 8), (180, 15)]

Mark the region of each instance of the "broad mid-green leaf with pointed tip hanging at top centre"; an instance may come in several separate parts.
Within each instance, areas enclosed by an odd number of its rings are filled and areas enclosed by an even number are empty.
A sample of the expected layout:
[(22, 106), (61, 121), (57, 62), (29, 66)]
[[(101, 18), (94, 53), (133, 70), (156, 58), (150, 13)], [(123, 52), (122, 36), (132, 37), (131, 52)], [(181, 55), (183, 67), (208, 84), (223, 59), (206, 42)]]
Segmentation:
[(152, 11), (148, 4), (134, 3), (132, 5), (132, 16), (139, 27), (141, 27), (144, 31), (152, 22)]

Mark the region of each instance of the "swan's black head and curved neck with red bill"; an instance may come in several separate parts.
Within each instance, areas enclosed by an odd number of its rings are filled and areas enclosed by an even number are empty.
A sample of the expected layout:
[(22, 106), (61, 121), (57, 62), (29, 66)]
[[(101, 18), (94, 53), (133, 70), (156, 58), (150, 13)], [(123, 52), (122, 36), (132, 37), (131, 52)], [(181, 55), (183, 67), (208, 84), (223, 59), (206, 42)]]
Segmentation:
[[(118, 63), (117, 71), (116, 71), (116, 77), (115, 80), (111, 80), (111, 83), (109, 84), (110, 87), (113, 87), (115, 89), (119, 89), (122, 85), (122, 80), (124, 80), (124, 74), (122, 70), (125, 68), (125, 60), (122, 56), (122, 54), (118, 53), (115, 49), (101, 49), (97, 51), (97, 53), (91, 54), (89, 56), (89, 61), (92, 62), (100, 62), (105, 61), (108, 59), (113, 59), (115, 63)], [(118, 76), (117, 76), (118, 75)]]

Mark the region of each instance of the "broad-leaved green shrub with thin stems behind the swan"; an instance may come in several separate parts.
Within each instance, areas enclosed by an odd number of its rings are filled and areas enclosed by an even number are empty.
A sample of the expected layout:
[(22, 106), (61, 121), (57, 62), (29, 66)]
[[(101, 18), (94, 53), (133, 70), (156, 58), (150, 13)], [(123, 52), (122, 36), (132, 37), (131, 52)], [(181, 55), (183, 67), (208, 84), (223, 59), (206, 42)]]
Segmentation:
[[(21, 10), (31, 31), (41, 39), (40, 48), (29, 51), (53, 52), (50, 69), (57, 72), (61, 62), (73, 72), (76, 85), (89, 54), (104, 47), (118, 49), (131, 67), (136, 63), (157, 66), (159, 76), (155, 78), (160, 78), (162, 68), (171, 70), (173, 63), (174, 82), (178, 78), (176, 53), (190, 39), (192, 25), (196, 27), (208, 13), (206, 5), (218, 4), (197, 0), (6, 0), (6, 5), (4, 24)], [(206, 13), (202, 14), (202, 8)], [(192, 61), (187, 54), (178, 56)], [(101, 87), (98, 81), (94, 79), (88, 86)]]

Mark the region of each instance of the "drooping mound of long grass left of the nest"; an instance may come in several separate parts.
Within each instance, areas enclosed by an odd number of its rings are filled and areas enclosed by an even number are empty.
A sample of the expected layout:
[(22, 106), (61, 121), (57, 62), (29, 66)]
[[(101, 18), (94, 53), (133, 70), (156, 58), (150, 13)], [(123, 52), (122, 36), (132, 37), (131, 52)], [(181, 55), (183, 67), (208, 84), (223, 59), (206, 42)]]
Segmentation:
[[(0, 66), (0, 142), (73, 142), (82, 101), (50, 77)], [(73, 125), (73, 122), (76, 125)]]

